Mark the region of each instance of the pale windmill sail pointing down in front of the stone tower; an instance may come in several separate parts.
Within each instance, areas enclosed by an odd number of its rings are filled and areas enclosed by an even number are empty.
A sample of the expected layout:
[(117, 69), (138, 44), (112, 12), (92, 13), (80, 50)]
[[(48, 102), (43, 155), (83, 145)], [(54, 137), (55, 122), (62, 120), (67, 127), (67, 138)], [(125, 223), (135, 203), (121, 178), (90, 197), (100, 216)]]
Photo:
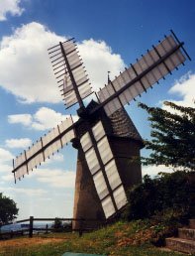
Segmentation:
[(106, 218), (127, 203), (127, 196), (102, 122), (89, 128), (80, 139)]

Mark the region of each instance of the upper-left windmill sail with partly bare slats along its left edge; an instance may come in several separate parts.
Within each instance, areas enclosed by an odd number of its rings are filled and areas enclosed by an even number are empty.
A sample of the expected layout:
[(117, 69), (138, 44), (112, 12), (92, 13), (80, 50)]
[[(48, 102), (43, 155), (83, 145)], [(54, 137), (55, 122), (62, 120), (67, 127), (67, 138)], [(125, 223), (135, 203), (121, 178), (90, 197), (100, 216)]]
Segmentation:
[(73, 39), (59, 43), (54, 49), (49, 49), (49, 55), (51, 60), (54, 58), (51, 63), (54, 66), (54, 74), (59, 79), (57, 82), (61, 83), (59, 87), (66, 106), (70, 107), (76, 103), (83, 106), (82, 99), (93, 92)]

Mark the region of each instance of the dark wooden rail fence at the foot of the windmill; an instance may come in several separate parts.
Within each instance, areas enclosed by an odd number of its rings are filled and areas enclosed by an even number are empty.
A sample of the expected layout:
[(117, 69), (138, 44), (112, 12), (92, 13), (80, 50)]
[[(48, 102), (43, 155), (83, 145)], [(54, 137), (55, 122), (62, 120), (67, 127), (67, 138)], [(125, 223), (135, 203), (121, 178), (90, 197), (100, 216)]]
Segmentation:
[[(67, 226), (67, 227), (60, 227), (60, 228), (49, 228), (49, 225), (46, 224), (46, 227), (44, 228), (36, 228), (34, 227), (34, 221), (55, 221), (55, 220), (60, 220), (60, 221), (79, 221), (80, 225), (78, 229), (72, 228), (72, 224), (71, 226)], [(10, 232), (0, 232), (0, 238), (2, 237), (10, 237), (12, 238), (14, 235), (24, 235), (24, 234), (29, 234), (29, 237), (32, 238), (34, 235), (34, 231), (37, 231), (39, 233), (39, 231), (44, 231), (45, 233), (49, 233), (49, 232), (55, 232), (55, 231), (63, 231), (63, 232), (78, 232), (79, 236), (82, 236), (83, 232), (89, 232), (89, 231), (93, 231), (97, 228), (85, 228), (84, 227), (84, 222), (85, 221), (94, 221), (96, 223), (99, 223), (99, 226), (103, 226), (106, 225), (106, 222), (100, 219), (84, 219), (84, 218), (35, 218), (34, 216), (30, 216), (30, 218), (28, 219), (23, 219), (23, 220), (18, 220), (16, 222), (12, 222), (12, 223), (7, 223), (5, 225), (2, 226), (6, 226), (6, 225), (10, 225), (10, 224), (18, 224), (18, 223), (23, 223), (23, 222), (29, 222), (28, 224), (28, 228), (24, 228), (22, 230), (11, 230)], [(1, 227), (2, 227), (1, 226)]]

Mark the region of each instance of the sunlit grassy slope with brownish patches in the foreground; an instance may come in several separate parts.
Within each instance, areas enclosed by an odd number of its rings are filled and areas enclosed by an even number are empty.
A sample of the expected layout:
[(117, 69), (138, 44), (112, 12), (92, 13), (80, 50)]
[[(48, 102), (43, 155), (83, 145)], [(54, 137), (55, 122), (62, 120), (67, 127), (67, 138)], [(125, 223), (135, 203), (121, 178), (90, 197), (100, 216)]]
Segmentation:
[(27, 237), (22, 240), (12, 239), (7, 246), (2, 246), (3, 242), (0, 241), (0, 256), (61, 256), (67, 251), (109, 256), (181, 256), (151, 245), (150, 230), (146, 226), (138, 228), (138, 225), (141, 223), (120, 221), (100, 230), (84, 233), (80, 238), (77, 233), (50, 233), (32, 238), (39, 239), (40, 244), (28, 243), (33, 240)]

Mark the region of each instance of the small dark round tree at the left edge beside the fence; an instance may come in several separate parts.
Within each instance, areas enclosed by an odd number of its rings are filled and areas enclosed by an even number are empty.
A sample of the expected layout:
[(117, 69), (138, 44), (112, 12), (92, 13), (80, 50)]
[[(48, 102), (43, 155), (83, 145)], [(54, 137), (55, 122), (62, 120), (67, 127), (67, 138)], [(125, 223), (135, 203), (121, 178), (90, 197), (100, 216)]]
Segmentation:
[(0, 224), (14, 220), (18, 210), (16, 202), (0, 192)]

